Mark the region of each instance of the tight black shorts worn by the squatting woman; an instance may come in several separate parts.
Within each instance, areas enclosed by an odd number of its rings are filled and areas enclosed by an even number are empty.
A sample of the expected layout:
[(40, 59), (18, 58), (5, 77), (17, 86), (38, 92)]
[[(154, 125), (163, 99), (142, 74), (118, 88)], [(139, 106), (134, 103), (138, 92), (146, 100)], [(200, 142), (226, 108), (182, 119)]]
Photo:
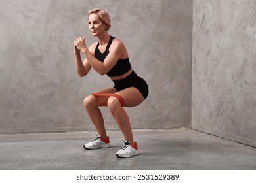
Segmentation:
[(125, 88), (135, 87), (139, 90), (139, 92), (143, 95), (144, 99), (148, 97), (148, 84), (146, 81), (133, 71), (129, 76), (123, 78), (121, 80), (113, 80), (116, 90), (120, 91)]

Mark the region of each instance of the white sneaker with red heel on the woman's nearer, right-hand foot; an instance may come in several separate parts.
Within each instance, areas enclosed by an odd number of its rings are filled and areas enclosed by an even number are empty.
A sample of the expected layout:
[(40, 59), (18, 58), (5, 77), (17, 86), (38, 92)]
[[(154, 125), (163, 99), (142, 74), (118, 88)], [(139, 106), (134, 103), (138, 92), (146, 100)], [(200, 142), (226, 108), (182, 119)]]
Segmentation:
[(139, 154), (137, 142), (131, 142), (129, 141), (124, 141), (125, 145), (123, 148), (121, 148), (117, 153), (116, 156), (119, 158), (131, 158), (132, 156), (136, 156)]

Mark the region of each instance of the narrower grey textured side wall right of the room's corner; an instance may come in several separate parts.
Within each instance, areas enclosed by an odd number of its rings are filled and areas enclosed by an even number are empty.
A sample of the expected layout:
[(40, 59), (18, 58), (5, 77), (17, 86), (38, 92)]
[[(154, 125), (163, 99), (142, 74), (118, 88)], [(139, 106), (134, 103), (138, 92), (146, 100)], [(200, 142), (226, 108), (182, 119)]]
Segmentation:
[(194, 0), (192, 127), (256, 146), (256, 1)]

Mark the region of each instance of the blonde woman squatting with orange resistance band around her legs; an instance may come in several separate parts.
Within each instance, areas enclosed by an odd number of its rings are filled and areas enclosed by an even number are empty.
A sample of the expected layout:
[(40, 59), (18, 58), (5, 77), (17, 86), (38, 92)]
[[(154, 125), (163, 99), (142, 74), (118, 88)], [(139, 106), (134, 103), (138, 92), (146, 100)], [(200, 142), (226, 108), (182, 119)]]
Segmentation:
[[(93, 67), (100, 75), (108, 75), (114, 87), (92, 93), (84, 99), (84, 106), (96, 127), (98, 137), (84, 145), (87, 149), (109, 148), (110, 140), (106, 134), (100, 106), (109, 108), (121, 129), (125, 145), (117, 157), (130, 158), (139, 154), (137, 142), (133, 139), (131, 124), (123, 107), (135, 107), (148, 96), (148, 85), (133, 71), (127, 50), (119, 39), (108, 34), (110, 16), (106, 10), (94, 9), (88, 12), (89, 29), (98, 42), (87, 48), (85, 37), (74, 40), (75, 67), (79, 76), (86, 76)], [(80, 52), (85, 56), (81, 61)]]

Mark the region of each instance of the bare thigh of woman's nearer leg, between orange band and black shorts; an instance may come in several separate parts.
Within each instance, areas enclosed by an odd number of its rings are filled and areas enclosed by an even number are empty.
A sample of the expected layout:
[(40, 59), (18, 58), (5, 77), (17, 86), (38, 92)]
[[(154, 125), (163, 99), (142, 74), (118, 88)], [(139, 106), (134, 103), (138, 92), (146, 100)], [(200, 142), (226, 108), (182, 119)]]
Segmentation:
[(125, 107), (135, 107), (144, 101), (143, 95), (135, 87), (125, 88), (116, 94), (121, 95), (125, 101)]

